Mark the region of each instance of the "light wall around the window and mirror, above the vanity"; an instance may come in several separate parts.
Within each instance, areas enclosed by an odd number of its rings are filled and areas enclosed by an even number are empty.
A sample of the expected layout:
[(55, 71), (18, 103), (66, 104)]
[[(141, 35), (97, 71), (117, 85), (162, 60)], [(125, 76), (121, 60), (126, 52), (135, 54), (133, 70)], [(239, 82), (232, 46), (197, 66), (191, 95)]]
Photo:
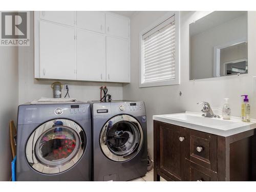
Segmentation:
[[(138, 34), (166, 12), (140, 12), (131, 19), (131, 83), (123, 86), (123, 98), (143, 100), (147, 112), (148, 148), (153, 156), (153, 115), (184, 111), (200, 112), (199, 101), (208, 101), (214, 112), (221, 113), (223, 98), (230, 98), (231, 114), (240, 116), (241, 97), (248, 94), (251, 116), (256, 118), (256, 94), (253, 79), (256, 76), (256, 12), (248, 13), (248, 69), (249, 73), (189, 81), (189, 24), (209, 12), (181, 12), (180, 16), (180, 85), (139, 88)], [(204, 53), (202, 53), (204, 54)], [(202, 71), (203, 72), (203, 71)], [(179, 96), (179, 91), (182, 96)]]

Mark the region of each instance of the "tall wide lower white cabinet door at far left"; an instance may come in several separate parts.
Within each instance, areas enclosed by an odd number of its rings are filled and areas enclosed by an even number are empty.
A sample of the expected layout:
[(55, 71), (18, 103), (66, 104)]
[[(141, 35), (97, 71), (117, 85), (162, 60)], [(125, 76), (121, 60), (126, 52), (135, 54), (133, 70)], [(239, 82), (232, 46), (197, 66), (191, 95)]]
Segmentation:
[(74, 28), (40, 21), (40, 78), (75, 79)]

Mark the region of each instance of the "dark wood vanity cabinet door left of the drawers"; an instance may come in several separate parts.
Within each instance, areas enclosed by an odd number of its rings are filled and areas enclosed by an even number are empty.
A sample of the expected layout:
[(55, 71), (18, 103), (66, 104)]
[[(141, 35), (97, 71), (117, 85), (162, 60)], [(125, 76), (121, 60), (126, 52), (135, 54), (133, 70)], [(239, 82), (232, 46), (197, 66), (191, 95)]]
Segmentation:
[(185, 161), (185, 129), (160, 122), (158, 129), (157, 169), (174, 181), (182, 181)]

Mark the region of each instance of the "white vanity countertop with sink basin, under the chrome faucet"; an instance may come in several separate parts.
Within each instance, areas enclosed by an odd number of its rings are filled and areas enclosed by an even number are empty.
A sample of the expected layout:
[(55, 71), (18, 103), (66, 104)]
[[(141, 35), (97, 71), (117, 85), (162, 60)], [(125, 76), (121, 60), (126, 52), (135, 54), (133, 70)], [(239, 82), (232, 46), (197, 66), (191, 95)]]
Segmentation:
[(251, 119), (251, 122), (247, 123), (243, 122), (240, 117), (231, 117), (230, 120), (224, 120), (222, 117), (202, 117), (202, 113), (196, 112), (153, 115), (153, 120), (224, 137), (256, 128), (256, 119)]

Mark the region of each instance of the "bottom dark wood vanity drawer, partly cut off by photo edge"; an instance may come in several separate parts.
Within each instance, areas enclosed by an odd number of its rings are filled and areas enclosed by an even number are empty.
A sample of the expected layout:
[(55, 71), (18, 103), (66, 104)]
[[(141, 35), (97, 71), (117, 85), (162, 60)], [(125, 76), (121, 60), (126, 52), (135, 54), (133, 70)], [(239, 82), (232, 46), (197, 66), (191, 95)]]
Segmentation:
[(217, 173), (202, 167), (196, 163), (186, 160), (188, 173), (186, 174), (187, 181), (217, 181)]

